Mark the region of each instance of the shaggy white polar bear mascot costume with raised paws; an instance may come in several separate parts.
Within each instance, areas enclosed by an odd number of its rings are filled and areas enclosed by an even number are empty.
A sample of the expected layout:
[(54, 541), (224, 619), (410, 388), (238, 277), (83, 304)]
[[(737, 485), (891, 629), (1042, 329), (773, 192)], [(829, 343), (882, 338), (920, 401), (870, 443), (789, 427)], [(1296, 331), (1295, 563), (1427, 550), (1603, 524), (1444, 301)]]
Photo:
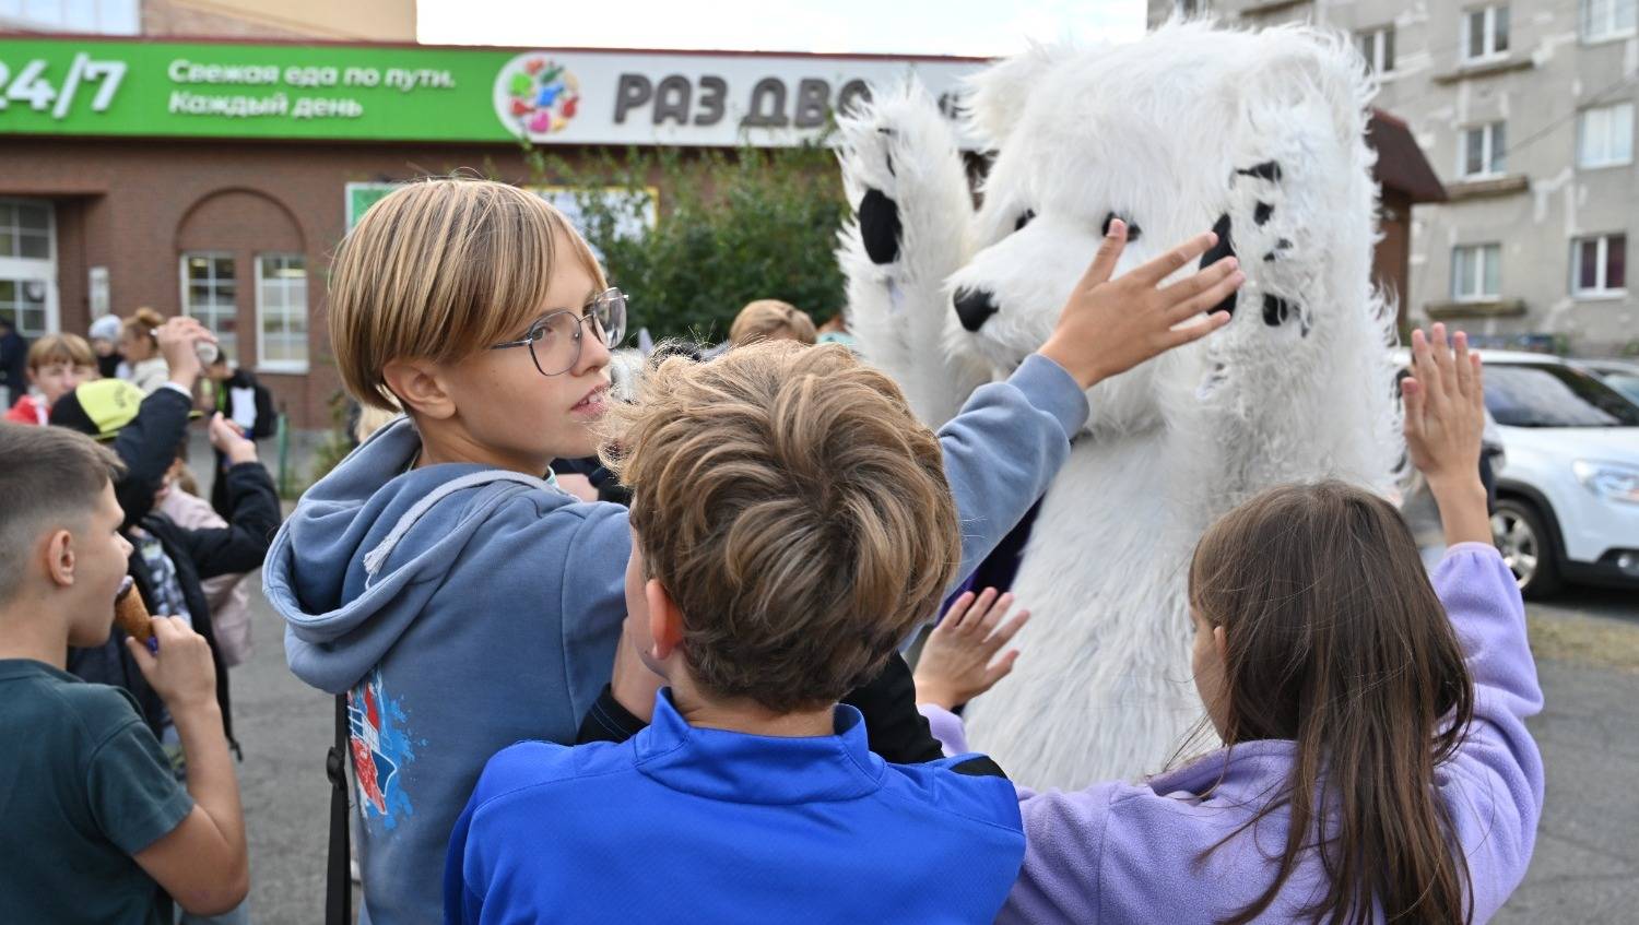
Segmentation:
[[(1370, 282), (1372, 83), (1342, 36), (1172, 23), (1098, 51), (1033, 49), (972, 80), (995, 151), (975, 211), (956, 133), (916, 87), (842, 121), (852, 331), (938, 427), (1049, 336), (1108, 221), (1116, 273), (1206, 229), (1239, 257), (1231, 323), (1093, 386), (1013, 583), (1033, 612), (1011, 678), (969, 707), (975, 748), (1031, 786), (1159, 771), (1203, 711), (1185, 580), (1251, 494), (1401, 463), (1393, 311)], [(1193, 267), (1180, 272), (1180, 277)]]

